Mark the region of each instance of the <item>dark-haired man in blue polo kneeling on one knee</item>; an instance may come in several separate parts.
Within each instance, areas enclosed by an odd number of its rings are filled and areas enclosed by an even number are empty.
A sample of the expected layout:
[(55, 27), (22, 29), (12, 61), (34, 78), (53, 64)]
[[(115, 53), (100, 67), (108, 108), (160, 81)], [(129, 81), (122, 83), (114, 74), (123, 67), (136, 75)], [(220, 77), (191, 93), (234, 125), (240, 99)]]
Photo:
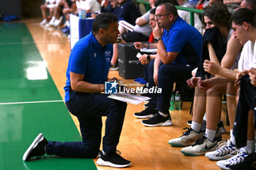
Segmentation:
[[(94, 19), (88, 36), (80, 39), (72, 49), (67, 67), (65, 102), (72, 115), (78, 117), (82, 142), (47, 141), (39, 134), (23, 155), (23, 161), (34, 156), (57, 155), (69, 158), (96, 158), (99, 166), (123, 168), (131, 164), (116, 153), (127, 103), (108, 98), (104, 92), (108, 70), (116, 42), (118, 18), (102, 13)], [(103, 150), (102, 116), (107, 116)]]

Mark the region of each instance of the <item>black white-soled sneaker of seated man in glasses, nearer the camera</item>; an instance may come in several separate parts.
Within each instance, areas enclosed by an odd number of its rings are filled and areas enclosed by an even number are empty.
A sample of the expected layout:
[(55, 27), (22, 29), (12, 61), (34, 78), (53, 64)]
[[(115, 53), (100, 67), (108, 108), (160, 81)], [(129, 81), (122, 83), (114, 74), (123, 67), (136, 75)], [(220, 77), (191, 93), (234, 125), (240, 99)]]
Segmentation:
[(172, 120), (170, 119), (170, 115), (167, 117), (163, 117), (158, 112), (154, 117), (149, 118), (148, 120), (141, 121), (143, 125), (146, 126), (162, 126), (162, 125), (173, 125)]

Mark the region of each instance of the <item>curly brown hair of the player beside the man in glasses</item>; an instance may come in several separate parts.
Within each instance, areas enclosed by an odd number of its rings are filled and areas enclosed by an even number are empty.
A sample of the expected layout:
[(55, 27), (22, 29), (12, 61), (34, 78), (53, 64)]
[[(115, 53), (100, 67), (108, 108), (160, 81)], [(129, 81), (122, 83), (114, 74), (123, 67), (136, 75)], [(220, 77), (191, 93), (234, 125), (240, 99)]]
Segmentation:
[[(225, 6), (225, 4), (212, 4), (203, 12), (203, 17), (204, 16), (212, 20), (214, 25), (217, 27), (225, 26), (226, 28), (230, 28), (230, 12), (228, 12), (227, 6)], [(204, 20), (203, 25), (206, 26)]]

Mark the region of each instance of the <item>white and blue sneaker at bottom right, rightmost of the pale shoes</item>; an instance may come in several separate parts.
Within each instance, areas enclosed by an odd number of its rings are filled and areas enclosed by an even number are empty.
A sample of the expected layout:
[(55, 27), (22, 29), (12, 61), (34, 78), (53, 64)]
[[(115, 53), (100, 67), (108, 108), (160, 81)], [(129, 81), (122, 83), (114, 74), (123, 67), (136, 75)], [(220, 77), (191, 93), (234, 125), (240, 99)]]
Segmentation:
[(235, 166), (238, 163), (242, 163), (247, 156), (247, 150), (245, 150), (244, 147), (241, 147), (239, 152), (233, 157), (226, 160), (217, 161), (217, 166), (219, 166), (221, 169), (230, 169), (230, 166)]

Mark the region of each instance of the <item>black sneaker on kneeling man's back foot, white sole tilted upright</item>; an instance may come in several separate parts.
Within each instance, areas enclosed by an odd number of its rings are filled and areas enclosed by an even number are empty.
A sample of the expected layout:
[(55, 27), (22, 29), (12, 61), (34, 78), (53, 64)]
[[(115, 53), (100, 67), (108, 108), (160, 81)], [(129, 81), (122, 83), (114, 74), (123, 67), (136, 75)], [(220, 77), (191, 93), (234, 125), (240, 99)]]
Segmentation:
[(30, 158), (34, 156), (41, 157), (45, 155), (45, 144), (48, 144), (48, 141), (41, 134), (37, 135), (36, 139), (32, 142), (29, 148), (23, 155), (23, 161), (29, 161)]

